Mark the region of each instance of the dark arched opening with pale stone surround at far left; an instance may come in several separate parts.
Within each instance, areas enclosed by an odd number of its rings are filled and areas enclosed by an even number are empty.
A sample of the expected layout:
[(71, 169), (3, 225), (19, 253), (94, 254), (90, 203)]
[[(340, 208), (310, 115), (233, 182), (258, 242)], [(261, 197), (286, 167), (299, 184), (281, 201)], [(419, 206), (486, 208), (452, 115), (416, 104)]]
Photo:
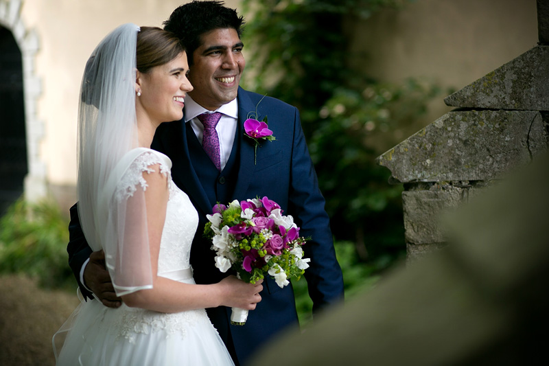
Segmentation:
[(21, 0), (0, 0), (0, 195), (8, 192), (5, 202), (21, 191), (30, 201), (46, 195), (38, 149), (44, 124), (36, 114), (41, 85), (34, 73), (39, 43), (21, 19), (21, 5)]

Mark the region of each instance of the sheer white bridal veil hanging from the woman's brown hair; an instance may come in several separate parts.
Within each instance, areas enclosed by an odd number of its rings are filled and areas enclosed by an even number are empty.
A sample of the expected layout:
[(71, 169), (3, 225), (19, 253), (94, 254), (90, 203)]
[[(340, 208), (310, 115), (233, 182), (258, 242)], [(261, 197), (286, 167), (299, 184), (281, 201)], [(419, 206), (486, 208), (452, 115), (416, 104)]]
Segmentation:
[(139, 27), (124, 24), (91, 54), (78, 115), (78, 214), (93, 251), (103, 249), (117, 295), (152, 287), (145, 185), (115, 195), (139, 155), (136, 47)]

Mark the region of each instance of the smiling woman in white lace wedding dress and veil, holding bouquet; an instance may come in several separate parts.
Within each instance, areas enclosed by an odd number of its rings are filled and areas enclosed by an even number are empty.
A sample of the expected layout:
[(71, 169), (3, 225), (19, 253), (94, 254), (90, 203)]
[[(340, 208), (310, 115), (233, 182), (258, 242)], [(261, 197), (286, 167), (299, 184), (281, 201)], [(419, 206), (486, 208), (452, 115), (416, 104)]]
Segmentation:
[[(260, 283), (197, 285), (189, 265), (198, 214), (174, 185), (156, 127), (183, 117), (187, 56), (156, 27), (117, 27), (89, 58), (79, 109), (78, 213), (103, 250), (120, 308), (81, 301), (58, 365), (232, 365), (205, 308), (253, 310)], [(56, 334), (56, 335), (57, 335)], [(54, 348), (55, 348), (54, 336)]]

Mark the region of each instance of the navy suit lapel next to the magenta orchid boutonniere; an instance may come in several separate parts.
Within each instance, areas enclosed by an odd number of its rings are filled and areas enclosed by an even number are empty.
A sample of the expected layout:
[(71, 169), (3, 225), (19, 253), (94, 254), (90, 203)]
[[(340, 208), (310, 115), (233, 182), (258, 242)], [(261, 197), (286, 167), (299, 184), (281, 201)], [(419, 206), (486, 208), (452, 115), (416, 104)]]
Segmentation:
[[(244, 136), (244, 121), (250, 111), (255, 111), (255, 105), (250, 100), (248, 92), (242, 88), (238, 89), (238, 126), (237, 138), (240, 140), (240, 169), (238, 171), (235, 192), (233, 198), (248, 199), (253, 197), (245, 197), (250, 180), (255, 170), (254, 148), (250, 144), (250, 139)], [(257, 116), (261, 119), (263, 116)]]

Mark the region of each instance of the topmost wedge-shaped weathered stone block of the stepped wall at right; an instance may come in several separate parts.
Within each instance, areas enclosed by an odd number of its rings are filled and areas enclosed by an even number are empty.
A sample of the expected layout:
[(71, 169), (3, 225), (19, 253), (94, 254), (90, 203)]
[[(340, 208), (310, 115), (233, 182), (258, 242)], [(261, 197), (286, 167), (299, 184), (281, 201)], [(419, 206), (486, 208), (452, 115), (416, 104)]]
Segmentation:
[(537, 46), (445, 98), (449, 106), (549, 111), (549, 46)]

